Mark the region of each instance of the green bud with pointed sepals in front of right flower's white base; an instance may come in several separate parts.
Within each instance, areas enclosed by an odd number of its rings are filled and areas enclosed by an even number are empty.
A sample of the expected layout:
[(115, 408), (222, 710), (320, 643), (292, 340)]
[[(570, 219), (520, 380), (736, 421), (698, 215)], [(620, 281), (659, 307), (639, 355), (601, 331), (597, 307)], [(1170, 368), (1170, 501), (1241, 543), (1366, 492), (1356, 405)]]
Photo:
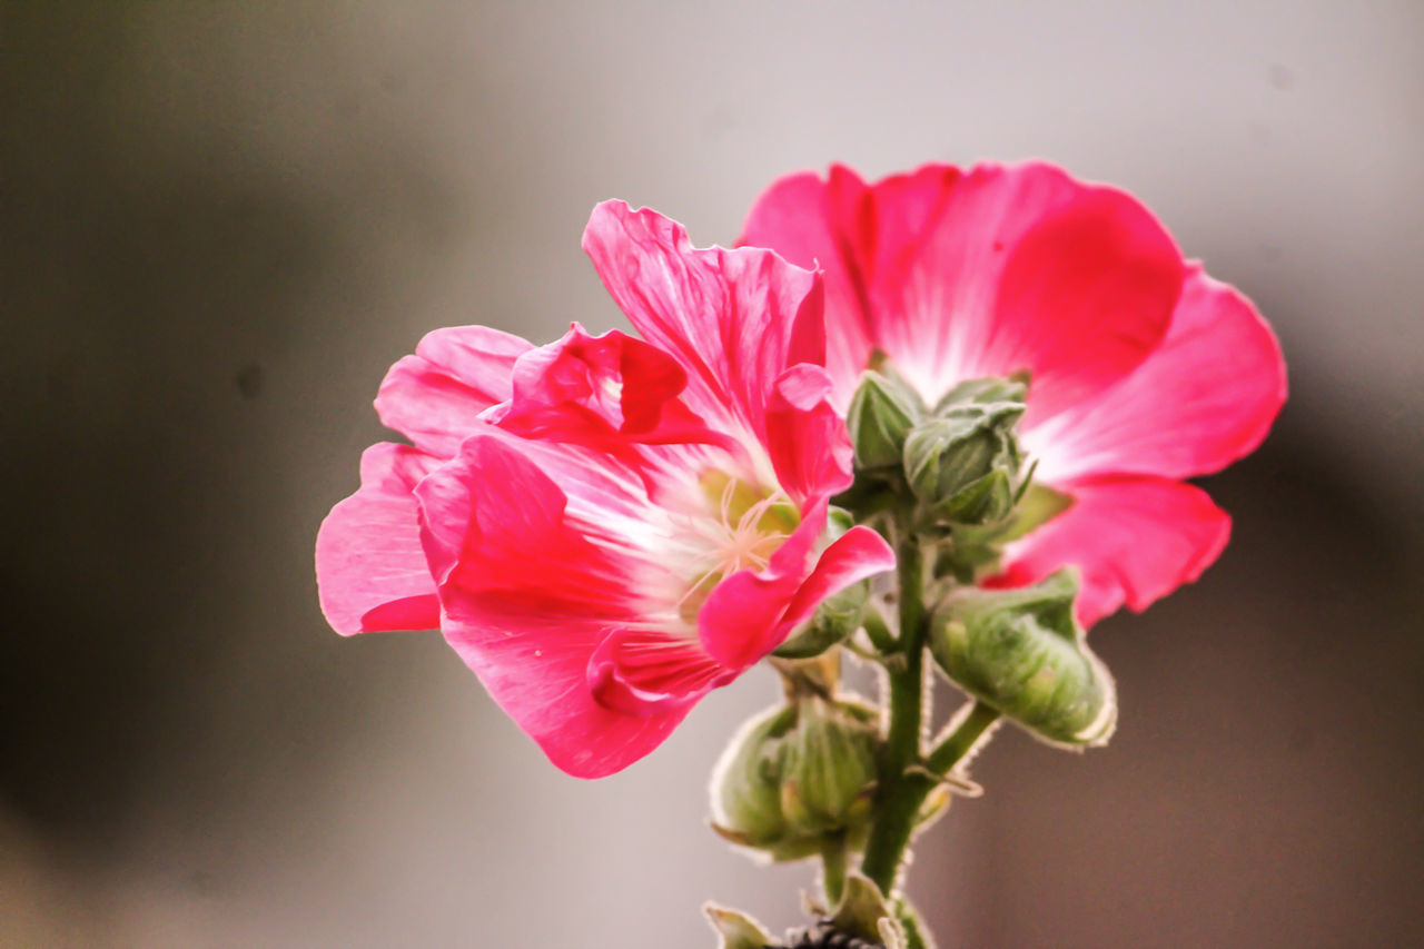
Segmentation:
[(1018, 503), (1028, 479), (1014, 426), (1022, 402), (956, 405), (910, 430), (904, 472), (940, 520), (988, 524)]

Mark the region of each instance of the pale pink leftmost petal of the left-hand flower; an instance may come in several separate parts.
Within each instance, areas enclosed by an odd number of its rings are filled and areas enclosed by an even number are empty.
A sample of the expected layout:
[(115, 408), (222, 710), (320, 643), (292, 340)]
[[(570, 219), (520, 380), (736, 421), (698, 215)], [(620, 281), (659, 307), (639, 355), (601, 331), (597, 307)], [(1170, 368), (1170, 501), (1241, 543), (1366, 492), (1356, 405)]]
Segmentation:
[(316, 586), (326, 620), (342, 636), (440, 626), (412, 496), (436, 463), (409, 445), (370, 446), (360, 460), (360, 490), (322, 522)]

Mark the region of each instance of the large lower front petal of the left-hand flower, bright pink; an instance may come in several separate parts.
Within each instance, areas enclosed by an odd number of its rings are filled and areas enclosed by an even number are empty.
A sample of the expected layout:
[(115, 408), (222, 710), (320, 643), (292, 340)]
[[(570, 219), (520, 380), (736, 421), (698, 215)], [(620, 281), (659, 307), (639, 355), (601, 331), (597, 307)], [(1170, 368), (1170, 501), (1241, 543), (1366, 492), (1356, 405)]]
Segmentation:
[(609, 630), (642, 618), (639, 564), (591, 541), (558, 484), (493, 433), (416, 493), (446, 640), (550, 759), (595, 778), (661, 744), (691, 702), (629, 714), (590, 684)]

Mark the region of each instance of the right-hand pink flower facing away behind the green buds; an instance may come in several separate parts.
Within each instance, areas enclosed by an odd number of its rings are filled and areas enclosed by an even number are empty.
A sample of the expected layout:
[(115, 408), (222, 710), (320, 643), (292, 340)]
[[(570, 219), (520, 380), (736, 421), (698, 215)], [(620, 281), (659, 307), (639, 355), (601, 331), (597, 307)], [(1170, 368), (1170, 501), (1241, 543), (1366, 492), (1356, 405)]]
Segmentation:
[(995, 583), (1078, 564), (1091, 624), (1196, 580), (1225, 547), (1230, 519), (1180, 479), (1266, 436), (1280, 348), (1126, 192), (1042, 162), (873, 185), (837, 165), (775, 182), (742, 242), (824, 268), (840, 406), (876, 349), (930, 405), (964, 379), (1031, 373), (1024, 443), (1074, 504), (1011, 544)]

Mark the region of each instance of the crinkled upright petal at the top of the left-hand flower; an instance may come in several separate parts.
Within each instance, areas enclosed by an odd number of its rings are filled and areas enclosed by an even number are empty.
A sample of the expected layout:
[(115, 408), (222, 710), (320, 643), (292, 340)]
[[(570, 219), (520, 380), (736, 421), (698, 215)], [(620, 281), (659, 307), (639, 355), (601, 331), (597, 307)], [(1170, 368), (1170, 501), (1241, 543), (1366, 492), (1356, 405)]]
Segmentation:
[(765, 445), (776, 378), (824, 361), (817, 275), (770, 251), (695, 249), (682, 225), (622, 201), (594, 208), (584, 249), (638, 332), (686, 370), (688, 406)]

